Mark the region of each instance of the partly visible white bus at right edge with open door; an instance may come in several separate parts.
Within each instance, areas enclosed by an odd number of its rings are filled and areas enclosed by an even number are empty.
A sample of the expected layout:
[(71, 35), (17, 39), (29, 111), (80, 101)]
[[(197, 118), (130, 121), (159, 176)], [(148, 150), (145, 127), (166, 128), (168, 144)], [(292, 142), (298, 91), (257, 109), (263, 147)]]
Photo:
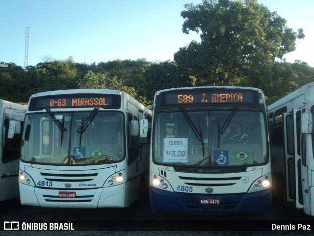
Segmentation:
[(314, 82), (268, 109), (274, 196), (314, 215)]

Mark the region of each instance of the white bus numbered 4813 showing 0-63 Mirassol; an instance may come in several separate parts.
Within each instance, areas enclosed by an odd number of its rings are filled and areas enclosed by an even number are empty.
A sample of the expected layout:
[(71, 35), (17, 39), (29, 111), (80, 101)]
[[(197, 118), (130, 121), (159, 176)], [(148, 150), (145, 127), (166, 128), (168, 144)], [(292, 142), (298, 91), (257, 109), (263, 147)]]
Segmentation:
[(62, 90), (30, 97), (22, 134), (21, 204), (123, 208), (148, 190), (145, 106), (116, 90)]

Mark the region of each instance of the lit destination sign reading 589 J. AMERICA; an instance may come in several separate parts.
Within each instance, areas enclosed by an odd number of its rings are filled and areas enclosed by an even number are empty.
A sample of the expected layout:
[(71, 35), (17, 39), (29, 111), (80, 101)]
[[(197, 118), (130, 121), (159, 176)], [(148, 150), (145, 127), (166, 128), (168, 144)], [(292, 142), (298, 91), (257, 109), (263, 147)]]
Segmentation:
[(254, 104), (254, 91), (249, 90), (180, 90), (164, 93), (162, 104), (206, 105), (206, 104)]

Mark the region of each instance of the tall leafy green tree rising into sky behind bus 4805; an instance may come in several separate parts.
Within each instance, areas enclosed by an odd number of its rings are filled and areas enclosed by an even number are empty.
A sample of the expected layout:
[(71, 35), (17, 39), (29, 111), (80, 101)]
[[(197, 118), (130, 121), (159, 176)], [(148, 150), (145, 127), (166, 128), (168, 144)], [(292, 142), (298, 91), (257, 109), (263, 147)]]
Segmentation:
[(197, 85), (235, 85), (253, 76), (258, 84), (269, 78), (263, 73), (276, 59), (305, 37), (302, 28), (288, 28), (284, 18), (257, 0), (204, 0), (185, 9), (183, 32), (198, 32), (201, 41), (181, 48), (174, 59), (197, 78)]

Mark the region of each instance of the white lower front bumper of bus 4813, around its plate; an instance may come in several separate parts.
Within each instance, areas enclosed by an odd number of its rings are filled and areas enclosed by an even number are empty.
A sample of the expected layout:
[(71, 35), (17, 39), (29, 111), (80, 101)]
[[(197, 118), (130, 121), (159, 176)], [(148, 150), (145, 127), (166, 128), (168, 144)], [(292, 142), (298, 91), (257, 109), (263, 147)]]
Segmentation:
[[(126, 184), (105, 188), (80, 189), (75, 198), (59, 198), (58, 189), (42, 189), (19, 184), (22, 205), (50, 208), (124, 208), (126, 207)], [(65, 191), (65, 190), (60, 190)]]

